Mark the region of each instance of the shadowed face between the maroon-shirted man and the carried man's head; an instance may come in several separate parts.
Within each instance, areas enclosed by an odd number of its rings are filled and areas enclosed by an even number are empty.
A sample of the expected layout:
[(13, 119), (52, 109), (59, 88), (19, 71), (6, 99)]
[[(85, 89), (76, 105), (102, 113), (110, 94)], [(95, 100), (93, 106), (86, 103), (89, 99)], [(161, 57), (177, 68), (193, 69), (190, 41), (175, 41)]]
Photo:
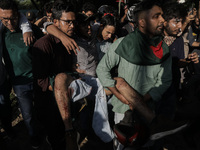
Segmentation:
[(85, 22), (79, 25), (79, 32), (82, 36), (90, 38), (92, 35), (90, 22)]

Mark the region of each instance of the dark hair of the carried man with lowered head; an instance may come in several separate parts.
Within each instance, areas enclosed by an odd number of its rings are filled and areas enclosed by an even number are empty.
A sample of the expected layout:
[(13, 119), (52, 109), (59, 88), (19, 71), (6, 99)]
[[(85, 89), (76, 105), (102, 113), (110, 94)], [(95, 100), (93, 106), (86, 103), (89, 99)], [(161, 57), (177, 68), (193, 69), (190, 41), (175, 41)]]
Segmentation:
[(101, 24), (103, 25), (103, 28), (107, 25), (116, 27), (117, 21), (113, 14), (108, 13), (101, 19)]

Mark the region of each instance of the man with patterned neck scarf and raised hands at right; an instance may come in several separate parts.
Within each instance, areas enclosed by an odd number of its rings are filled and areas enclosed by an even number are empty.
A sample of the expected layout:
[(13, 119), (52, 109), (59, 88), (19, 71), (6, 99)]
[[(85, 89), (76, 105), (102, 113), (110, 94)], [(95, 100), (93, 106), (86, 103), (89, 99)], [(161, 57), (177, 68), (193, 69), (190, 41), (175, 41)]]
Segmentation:
[(180, 81), (181, 81), (181, 72), (180, 68), (185, 67), (190, 62), (198, 63), (197, 53), (188, 54), (185, 58), (184, 53), (184, 41), (182, 36), (178, 37), (180, 29), (182, 28), (182, 14), (179, 8), (178, 3), (169, 3), (163, 7), (163, 17), (165, 19), (164, 23), (164, 41), (167, 43), (172, 55), (172, 75), (173, 75), (173, 84), (176, 89), (176, 94), (180, 97)]

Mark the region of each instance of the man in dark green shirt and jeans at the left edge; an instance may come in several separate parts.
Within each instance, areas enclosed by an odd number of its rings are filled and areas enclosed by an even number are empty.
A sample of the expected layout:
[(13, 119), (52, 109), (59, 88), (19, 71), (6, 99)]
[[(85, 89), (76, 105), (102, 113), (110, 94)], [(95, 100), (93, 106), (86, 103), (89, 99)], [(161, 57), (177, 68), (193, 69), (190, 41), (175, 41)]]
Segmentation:
[[(31, 47), (23, 42), (18, 23), (20, 15), (12, 0), (0, 1), (0, 18), (6, 27), (3, 30), (4, 61), (33, 148), (39, 146), (36, 121), (33, 117), (33, 74)], [(37, 33), (35, 33), (37, 34)]]

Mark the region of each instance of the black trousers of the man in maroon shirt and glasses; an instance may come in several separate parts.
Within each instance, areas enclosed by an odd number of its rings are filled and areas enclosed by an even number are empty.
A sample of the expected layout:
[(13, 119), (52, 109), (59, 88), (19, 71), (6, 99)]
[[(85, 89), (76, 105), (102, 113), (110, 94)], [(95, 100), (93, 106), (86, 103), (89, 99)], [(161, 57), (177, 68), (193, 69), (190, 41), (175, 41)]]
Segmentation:
[(52, 150), (65, 150), (65, 126), (53, 92), (39, 92), (35, 97), (35, 110)]

